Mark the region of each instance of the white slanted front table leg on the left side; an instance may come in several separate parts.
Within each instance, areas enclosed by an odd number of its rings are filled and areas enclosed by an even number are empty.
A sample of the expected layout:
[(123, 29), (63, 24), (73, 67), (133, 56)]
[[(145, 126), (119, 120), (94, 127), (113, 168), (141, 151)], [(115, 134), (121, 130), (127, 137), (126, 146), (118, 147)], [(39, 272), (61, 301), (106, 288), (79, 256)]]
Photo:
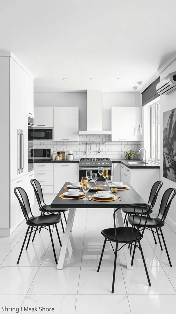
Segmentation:
[(70, 208), (69, 209), (69, 214), (68, 214), (68, 218), (67, 218), (67, 224), (65, 227), (65, 233), (63, 236), (63, 240), (62, 240), (62, 247), (60, 250), (57, 269), (62, 269), (63, 265), (64, 265), (65, 254), (66, 254), (67, 245), (68, 245), (68, 241), (69, 241), (70, 231), (71, 231), (71, 228), (73, 225), (73, 220), (75, 217), (75, 211), (76, 211), (76, 208)]

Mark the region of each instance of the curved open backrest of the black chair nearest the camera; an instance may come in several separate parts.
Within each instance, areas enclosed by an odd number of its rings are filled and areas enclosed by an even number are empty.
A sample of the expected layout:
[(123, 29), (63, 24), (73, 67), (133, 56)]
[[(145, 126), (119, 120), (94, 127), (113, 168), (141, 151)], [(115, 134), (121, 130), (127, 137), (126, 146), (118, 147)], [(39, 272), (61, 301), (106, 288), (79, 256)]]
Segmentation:
[[(145, 225), (143, 227), (143, 230), (141, 231), (141, 234), (143, 236), (144, 230), (145, 230), (145, 227), (146, 227), (146, 224), (147, 224), (148, 216), (150, 214), (150, 209), (151, 209), (150, 205), (148, 205), (148, 204), (130, 204), (130, 205), (122, 205), (122, 206), (119, 206), (118, 208), (116, 208), (116, 210), (114, 211), (114, 216), (113, 216), (116, 239), (117, 239), (117, 234), (116, 234), (116, 219), (115, 219), (115, 215), (116, 215), (116, 211), (117, 210), (121, 210), (121, 208), (123, 208), (123, 207), (125, 207), (125, 209), (126, 208), (130, 208), (130, 209), (133, 208), (133, 213), (131, 213), (133, 215), (132, 216), (133, 217), (132, 218), (132, 224), (131, 224), (130, 227), (127, 227), (127, 225), (126, 225), (126, 227), (124, 227), (125, 228), (125, 241), (129, 241), (130, 242), (130, 241), (138, 240), (136, 230), (137, 231), (140, 230), (141, 219), (145, 218), (146, 219)], [(141, 208), (141, 214), (138, 214), (139, 213), (139, 208)], [(146, 212), (146, 209), (148, 209), (148, 212)], [(142, 216), (143, 212), (145, 213), (145, 216)], [(135, 214), (137, 214), (137, 217), (139, 219), (139, 226), (137, 226), (136, 228), (135, 228), (135, 225), (134, 225), (134, 217), (135, 217), (134, 215)], [(136, 229), (136, 230), (134, 230), (134, 229)], [(129, 234), (129, 232), (130, 232), (130, 234)], [(142, 237), (141, 237), (141, 239), (142, 239)]]

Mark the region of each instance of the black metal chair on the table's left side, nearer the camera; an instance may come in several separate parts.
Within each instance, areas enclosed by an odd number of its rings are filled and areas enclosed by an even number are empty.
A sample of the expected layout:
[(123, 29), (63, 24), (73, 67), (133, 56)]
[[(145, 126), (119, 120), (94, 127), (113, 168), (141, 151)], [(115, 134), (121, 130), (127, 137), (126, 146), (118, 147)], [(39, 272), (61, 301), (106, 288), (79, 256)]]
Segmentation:
[[(23, 190), (23, 188), (22, 187), (15, 187), (14, 188), (14, 193), (15, 193), (16, 197), (18, 198), (18, 201), (20, 203), (20, 206), (21, 206), (24, 218), (26, 219), (26, 224), (28, 225), (28, 229), (26, 231), (26, 235), (25, 235), (25, 238), (24, 238), (24, 241), (23, 241), (23, 245), (22, 245), (19, 257), (18, 257), (17, 264), (19, 263), (21, 254), (23, 252), (24, 244), (25, 244), (27, 236), (29, 234), (28, 243), (27, 243), (27, 246), (26, 246), (26, 251), (28, 249), (28, 245), (29, 245), (29, 241), (30, 241), (32, 232), (34, 232), (34, 230), (33, 230), (34, 227), (36, 227), (35, 230), (37, 230), (38, 227), (41, 227), (41, 228), (44, 228), (44, 229), (47, 229), (46, 227), (49, 228), (47, 230), (49, 230), (51, 243), (52, 243), (52, 247), (53, 247), (54, 259), (55, 259), (55, 262), (57, 264), (57, 258), (56, 258), (56, 253), (55, 253), (55, 249), (54, 249), (54, 242), (53, 242), (52, 232), (51, 232), (51, 227), (50, 226), (53, 226), (53, 228), (55, 226), (56, 232), (57, 232), (57, 236), (58, 236), (58, 239), (59, 239), (59, 242), (60, 242), (60, 246), (62, 246), (61, 241), (60, 241), (59, 232), (58, 232), (58, 229), (57, 229), (57, 224), (61, 221), (61, 215), (51, 214), (51, 215), (34, 217), (32, 212), (31, 212), (31, 207), (30, 207), (28, 195)], [(29, 215), (31, 215), (31, 217), (29, 217)]]

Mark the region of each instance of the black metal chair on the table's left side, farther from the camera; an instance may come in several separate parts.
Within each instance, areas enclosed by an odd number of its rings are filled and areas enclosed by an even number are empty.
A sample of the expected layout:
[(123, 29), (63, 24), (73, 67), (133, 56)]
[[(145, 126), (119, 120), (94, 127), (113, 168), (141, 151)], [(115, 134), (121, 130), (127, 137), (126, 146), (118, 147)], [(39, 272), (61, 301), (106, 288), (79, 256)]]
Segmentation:
[[(44, 215), (44, 214), (60, 214), (63, 213), (64, 215), (64, 218), (65, 218), (65, 223), (67, 223), (67, 220), (66, 220), (66, 217), (65, 217), (65, 211), (67, 211), (69, 208), (51, 208), (51, 205), (46, 205), (44, 203), (44, 197), (43, 197), (43, 192), (42, 192), (42, 187), (39, 183), (38, 180), (36, 179), (32, 179), (31, 180), (31, 184), (34, 188), (34, 193), (35, 193), (35, 196), (37, 198), (37, 202), (39, 204), (39, 210), (41, 211), (41, 216)], [(64, 226), (63, 226), (63, 222), (62, 222), (62, 219), (61, 219), (61, 225), (62, 225), (62, 230), (63, 230), (63, 233), (65, 232), (64, 230)], [(34, 238), (35, 238), (35, 234), (37, 232), (37, 229), (34, 233), (34, 237), (32, 239), (32, 242), (34, 241)], [(39, 233), (41, 232), (41, 228), (39, 230)]]

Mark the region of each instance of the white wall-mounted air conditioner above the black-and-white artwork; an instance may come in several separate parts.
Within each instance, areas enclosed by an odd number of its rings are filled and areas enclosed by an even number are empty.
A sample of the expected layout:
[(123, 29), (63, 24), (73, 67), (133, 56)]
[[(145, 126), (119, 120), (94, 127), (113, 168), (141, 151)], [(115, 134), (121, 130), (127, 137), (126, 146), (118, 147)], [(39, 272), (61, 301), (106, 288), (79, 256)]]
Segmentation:
[(169, 73), (157, 84), (159, 95), (168, 95), (176, 89), (176, 72)]

